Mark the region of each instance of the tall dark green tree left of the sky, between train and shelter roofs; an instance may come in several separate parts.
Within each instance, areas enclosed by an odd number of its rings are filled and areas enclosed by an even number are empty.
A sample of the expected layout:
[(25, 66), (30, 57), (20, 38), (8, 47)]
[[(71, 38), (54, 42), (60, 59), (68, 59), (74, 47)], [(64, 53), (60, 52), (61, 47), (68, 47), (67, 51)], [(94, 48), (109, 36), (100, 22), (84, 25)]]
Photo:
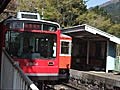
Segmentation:
[(58, 21), (63, 27), (76, 25), (77, 17), (87, 11), (83, 0), (58, 0), (57, 10), (61, 14)]

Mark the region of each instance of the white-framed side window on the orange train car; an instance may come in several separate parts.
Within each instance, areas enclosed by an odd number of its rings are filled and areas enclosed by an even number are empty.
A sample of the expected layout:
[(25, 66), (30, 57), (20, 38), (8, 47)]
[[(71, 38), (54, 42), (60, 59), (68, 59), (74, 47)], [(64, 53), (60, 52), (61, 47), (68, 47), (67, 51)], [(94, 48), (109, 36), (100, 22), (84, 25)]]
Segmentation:
[(70, 42), (61, 41), (61, 54), (70, 54)]

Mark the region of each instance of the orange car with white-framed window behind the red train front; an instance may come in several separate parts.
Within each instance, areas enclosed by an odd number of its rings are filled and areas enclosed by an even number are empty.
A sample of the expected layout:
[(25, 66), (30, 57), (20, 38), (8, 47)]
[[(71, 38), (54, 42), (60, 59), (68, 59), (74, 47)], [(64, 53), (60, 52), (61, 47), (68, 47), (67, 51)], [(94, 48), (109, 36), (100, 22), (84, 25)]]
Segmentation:
[(59, 77), (60, 79), (69, 78), (69, 69), (71, 67), (71, 43), (70, 36), (61, 34), (60, 37), (60, 59), (59, 59)]

